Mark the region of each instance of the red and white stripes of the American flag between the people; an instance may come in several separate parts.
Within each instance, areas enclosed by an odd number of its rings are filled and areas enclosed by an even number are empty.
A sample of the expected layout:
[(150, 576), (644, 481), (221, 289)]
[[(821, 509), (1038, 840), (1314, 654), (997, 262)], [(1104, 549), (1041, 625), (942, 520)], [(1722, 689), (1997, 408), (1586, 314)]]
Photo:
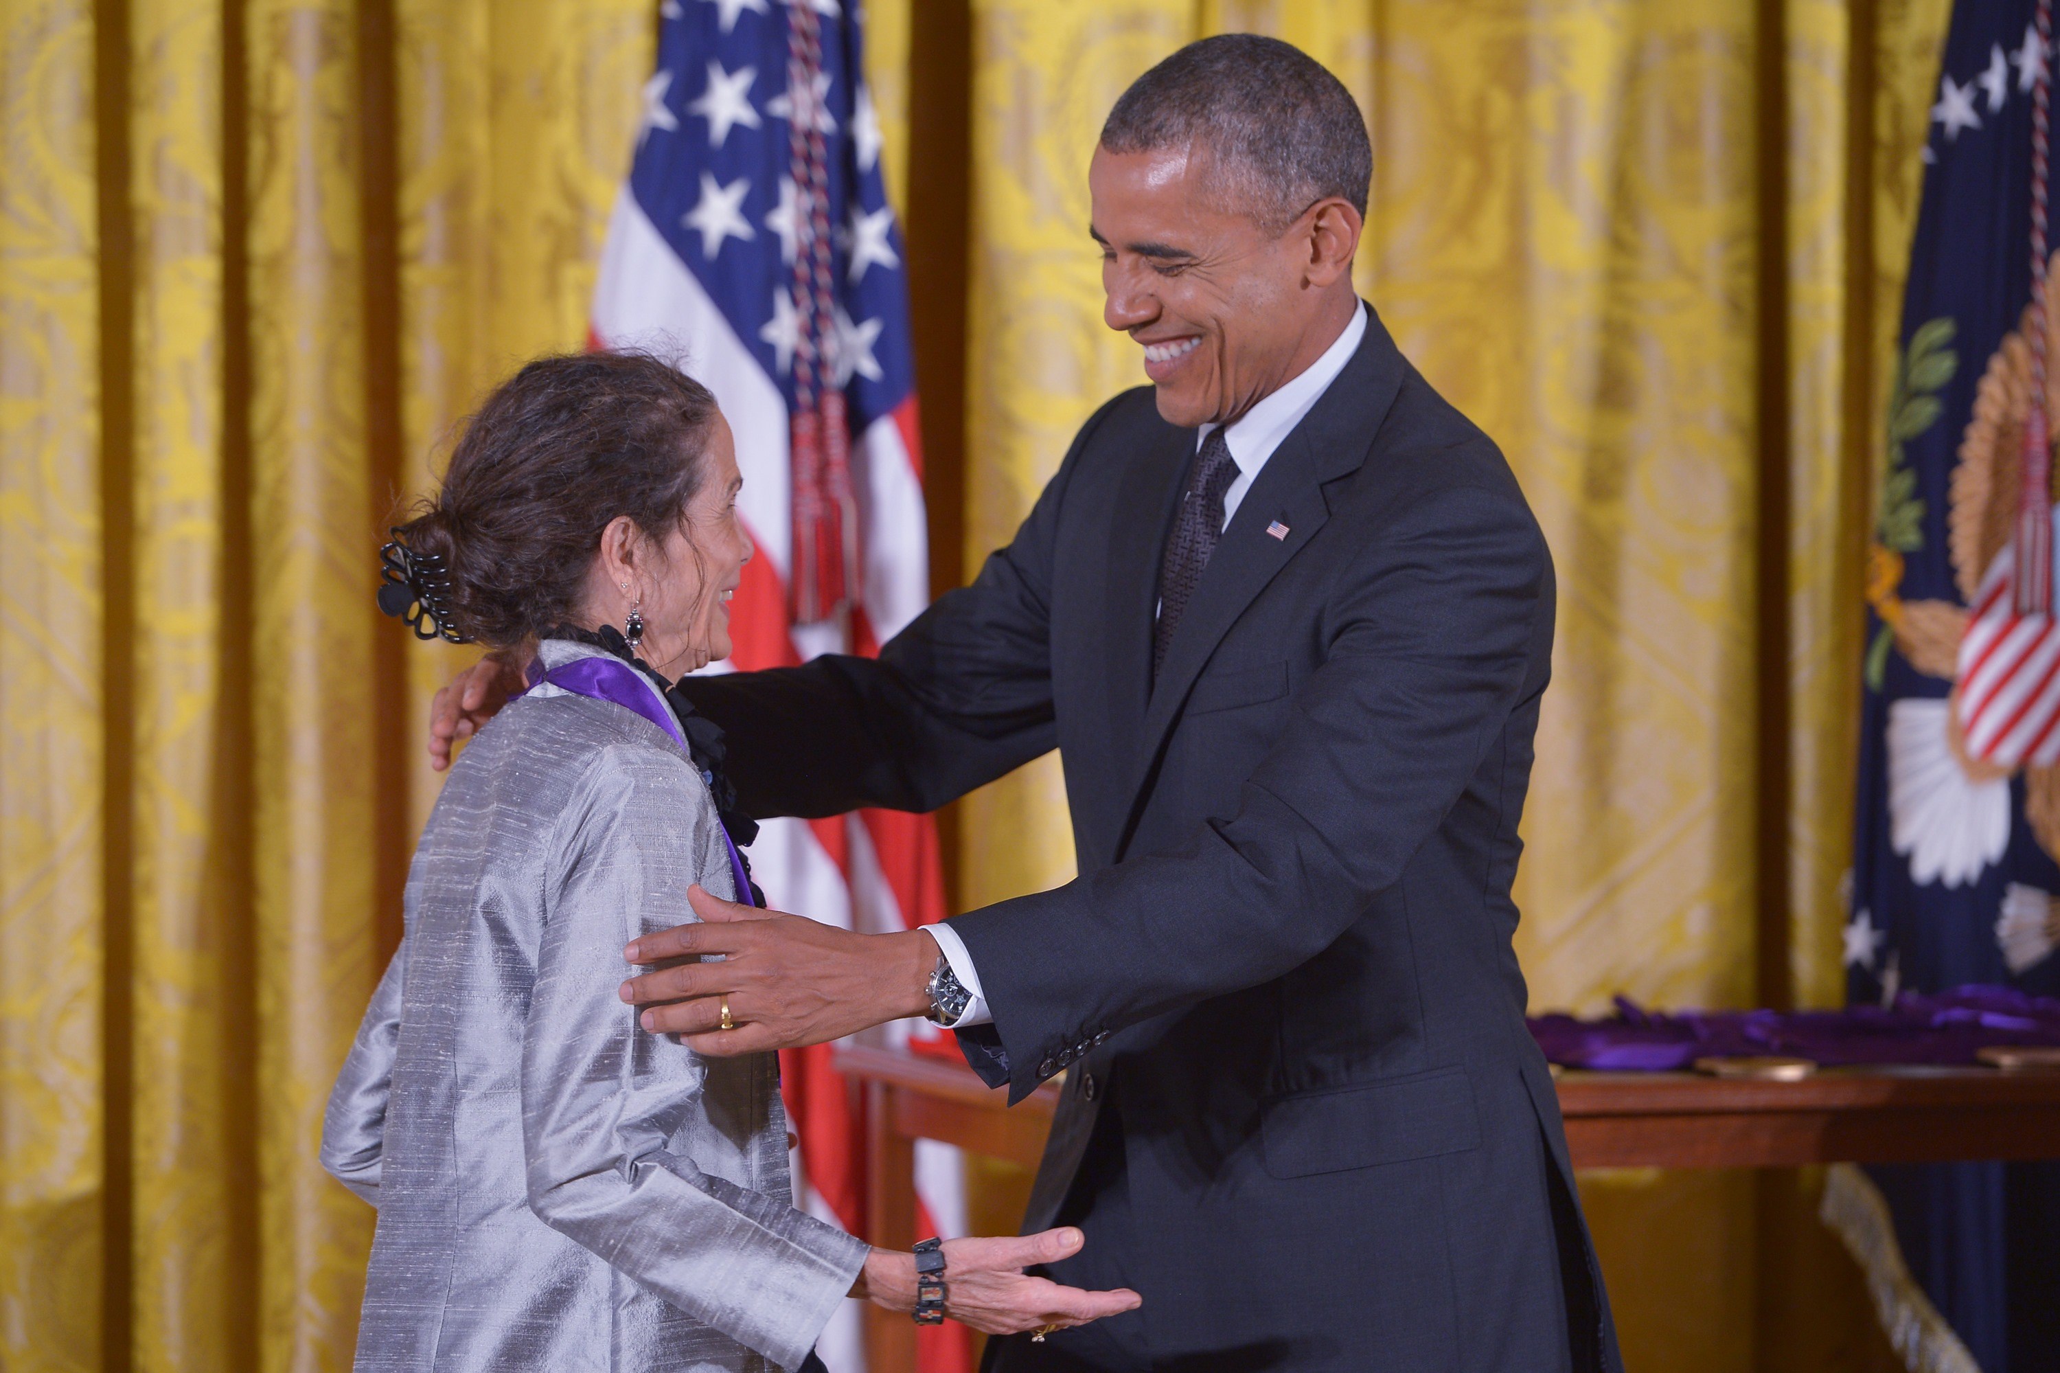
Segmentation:
[[(849, 623), (795, 627), (787, 612), (793, 513), (785, 396), (628, 190), (616, 200), (602, 252), (593, 344), (678, 359), (686, 373), (715, 392), (735, 433), (744, 472), (737, 505), (758, 555), (746, 565), (731, 602), (735, 649), (729, 662), (711, 670), (793, 666), (828, 651), (876, 654), (923, 610), (929, 602), (929, 526), (913, 396), (873, 421), (851, 451), (865, 559), (861, 600)], [(824, 924), (902, 930), (946, 913), (937, 831), (929, 816), (861, 810), (834, 821), (768, 821), (750, 856), (752, 874), (772, 907)], [(882, 1027), (880, 1037), (886, 1043), (915, 1037), (927, 1043), (911, 1047), (950, 1049), (921, 1023)], [(828, 1045), (785, 1053), (783, 1078), (787, 1111), (801, 1136), (797, 1200), (826, 1220), (865, 1233), (865, 1119), (859, 1099), (830, 1068)], [(919, 1146), (921, 1233), (966, 1233), (962, 1177), (958, 1150)], [(818, 1346), (832, 1373), (865, 1369), (857, 1307), (847, 1303)], [(923, 1373), (964, 1373), (970, 1363), (964, 1326), (923, 1328), (917, 1357)]]

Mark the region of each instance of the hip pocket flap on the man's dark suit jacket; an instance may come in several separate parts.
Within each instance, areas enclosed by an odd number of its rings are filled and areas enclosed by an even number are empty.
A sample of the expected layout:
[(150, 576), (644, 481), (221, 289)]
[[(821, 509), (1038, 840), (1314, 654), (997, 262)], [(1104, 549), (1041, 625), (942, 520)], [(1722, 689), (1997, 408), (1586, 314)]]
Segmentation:
[(1261, 1109), (1267, 1173), (1308, 1177), (1477, 1148), (1465, 1068), (1273, 1097)]

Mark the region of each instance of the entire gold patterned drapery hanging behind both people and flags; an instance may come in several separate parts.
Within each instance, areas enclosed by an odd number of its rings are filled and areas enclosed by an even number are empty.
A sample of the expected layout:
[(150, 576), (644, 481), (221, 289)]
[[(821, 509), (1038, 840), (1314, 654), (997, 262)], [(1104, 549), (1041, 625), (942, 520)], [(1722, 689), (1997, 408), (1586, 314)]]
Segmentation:
[[(911, 128), (917, 64), (964, 8), (878, 0), (869, 66), (913, 254), (970, 183), (968, 569), (1141, 379), (1086, 239), (1110, 101), (1201, 33), (1302, 43), (1374, 130), (1362, 289), (1559, 565), (1535, 1004), (1838, 1000), (1947, 0), (970, 0), (970, 153), (921, 161), (952, 142)], [(653, 23), (0, 0), (0, 1367), (348, 1367), (371, 1212), (313, 1142), (464, 660), (375, 621), (371, 548), (480, 388), (583, 342)], [(958, 369), (921, 365), (950, 414)], [(1065, 878), (1053, 761), (958, 833), (960, 905)], [(1584, 1183), (1636, 1367), (1862, 1367), (1809, 1187)]]

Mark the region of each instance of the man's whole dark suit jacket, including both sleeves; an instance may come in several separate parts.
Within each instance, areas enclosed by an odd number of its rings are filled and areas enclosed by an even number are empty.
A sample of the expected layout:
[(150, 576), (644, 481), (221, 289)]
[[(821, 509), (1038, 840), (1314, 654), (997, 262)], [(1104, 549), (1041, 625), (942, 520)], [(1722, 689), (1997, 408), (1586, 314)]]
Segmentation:
[[(1053, 1276), (1143, 1307), (1003, 1367), (1619, 1367), (1510, 946), (1551, 557), (1368, 326), (1158, 680), (1195, 431), (1139, 388), (878, 660), (682, 682), (758, 816), (933, 810), (1061, 750), (1079, 878), (952, 919), (993, 1010), (960, 1043), (1011, 1101), (1071, 1068), (1026, 1231), (1065, 1206)], [(1090, 1136), (1108, 1225), (1069, 1198)]]

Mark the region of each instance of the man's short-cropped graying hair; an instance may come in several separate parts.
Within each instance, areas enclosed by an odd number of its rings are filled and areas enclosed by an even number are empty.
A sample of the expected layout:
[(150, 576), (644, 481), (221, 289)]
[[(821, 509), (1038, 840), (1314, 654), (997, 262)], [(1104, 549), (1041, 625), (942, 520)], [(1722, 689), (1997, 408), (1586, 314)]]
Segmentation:
[(1351, 91), (1294, 43), (1224, 33), (1131, 82), (1102, 126), (1110, 153), (1207, 148), (1234, 208), (1271, 233), (1337, 196), (1366, 214), (1374, 148)]

